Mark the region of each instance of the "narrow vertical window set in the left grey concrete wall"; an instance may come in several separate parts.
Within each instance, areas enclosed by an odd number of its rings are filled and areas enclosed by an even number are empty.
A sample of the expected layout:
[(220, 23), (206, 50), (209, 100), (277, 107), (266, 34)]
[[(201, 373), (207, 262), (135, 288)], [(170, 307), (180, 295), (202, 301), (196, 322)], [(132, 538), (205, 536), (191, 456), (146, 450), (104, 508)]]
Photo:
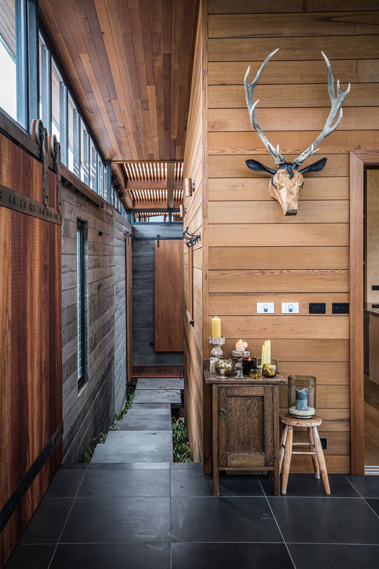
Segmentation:
[(76, 278), (77, 278), (77, 381), (80, 388), (84, 384), (84, 244), (83, 223), (76, 228)]

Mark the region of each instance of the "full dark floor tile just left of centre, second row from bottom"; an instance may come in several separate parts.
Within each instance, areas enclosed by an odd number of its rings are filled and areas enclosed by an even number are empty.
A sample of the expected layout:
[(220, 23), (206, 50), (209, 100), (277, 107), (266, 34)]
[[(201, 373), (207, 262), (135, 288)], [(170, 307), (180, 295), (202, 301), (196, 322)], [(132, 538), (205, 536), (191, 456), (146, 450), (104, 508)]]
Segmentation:
[(60, 543), (170, 541), (170, 498), (76, 498)]

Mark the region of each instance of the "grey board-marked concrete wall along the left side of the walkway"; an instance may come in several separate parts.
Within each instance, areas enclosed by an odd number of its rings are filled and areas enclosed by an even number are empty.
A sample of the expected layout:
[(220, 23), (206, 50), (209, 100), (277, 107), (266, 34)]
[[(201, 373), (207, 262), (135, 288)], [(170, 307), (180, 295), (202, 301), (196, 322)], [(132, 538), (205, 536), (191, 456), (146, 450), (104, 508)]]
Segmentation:
[[(125, 229), (110, 204), (104, 209), (72, 189), (62, 191), (62, 346), (64, 461), (78, 461), (85, 445), (108, 431), (126, 394)], [(77, 386), (76, 227), (88, 230), (85, 384)], [(99, 235), (102, 232), (102, 235)], [(86, 278), (84, 279), (86, 280)], [(86, 286), (85, 286), (86, 290)]]

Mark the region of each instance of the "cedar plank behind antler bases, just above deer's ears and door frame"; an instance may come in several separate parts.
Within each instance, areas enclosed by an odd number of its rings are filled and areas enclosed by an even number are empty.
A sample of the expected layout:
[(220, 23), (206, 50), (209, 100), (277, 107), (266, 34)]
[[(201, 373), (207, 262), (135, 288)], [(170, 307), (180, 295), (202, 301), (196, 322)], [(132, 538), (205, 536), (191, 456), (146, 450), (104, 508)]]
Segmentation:
[[(244, 112), (247, 114), (248, 109), (246, 108)], [(302, 121), (301, 118), (298, 120)], [(296, 154), (296, 152), (301, 154), (318, 137), (322, 128), (320, 127), (320, 130), (278, 132), (269, 131), (262, 125), (266, 137), (269, 141), (275, 141), (275, 145), (279, 145), (283, 155)], [(336, 130), (318, 146), (320, 149), (318, 156), (322, 156), (324, 153), (348, 154), (351, 150), (361, 150), (362, 148), (376, 150), (379, 148), (379, 132), (377, 130)], [(246, 132), (209, 133), (208, 154), (244, 154), (248, 156), (267, 154), (271, 158), (270, 152), (252, 128)]]

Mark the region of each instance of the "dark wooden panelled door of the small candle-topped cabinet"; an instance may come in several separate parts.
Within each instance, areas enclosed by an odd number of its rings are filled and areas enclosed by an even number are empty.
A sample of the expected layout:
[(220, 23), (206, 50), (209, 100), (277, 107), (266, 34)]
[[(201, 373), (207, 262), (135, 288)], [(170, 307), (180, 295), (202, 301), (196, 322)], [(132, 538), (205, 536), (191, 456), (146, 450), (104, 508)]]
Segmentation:
[(219, 386), (220, 467), (272, 466), (272, 432), (272, 387)]

